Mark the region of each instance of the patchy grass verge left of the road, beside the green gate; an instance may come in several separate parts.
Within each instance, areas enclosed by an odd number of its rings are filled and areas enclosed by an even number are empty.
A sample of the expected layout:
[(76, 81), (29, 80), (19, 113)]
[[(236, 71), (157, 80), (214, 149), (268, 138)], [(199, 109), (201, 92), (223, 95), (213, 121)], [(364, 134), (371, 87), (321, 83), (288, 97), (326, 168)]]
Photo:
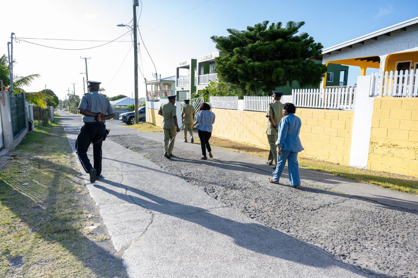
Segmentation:
[(0, 157), (0, 277), (125, 277), (55, 119)]

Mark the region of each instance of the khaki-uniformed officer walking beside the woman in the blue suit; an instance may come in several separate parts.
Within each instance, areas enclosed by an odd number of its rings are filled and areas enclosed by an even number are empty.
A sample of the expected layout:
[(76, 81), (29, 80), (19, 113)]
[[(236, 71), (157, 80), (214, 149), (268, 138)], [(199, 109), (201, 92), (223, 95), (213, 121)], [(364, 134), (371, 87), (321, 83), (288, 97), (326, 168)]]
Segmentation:
[(270, 103), (267, 107), (267, 114), (265, 115), (268, 120), (265, 126), (265, 134), (267, 134), (268, 144), (270, 145), (270, 152), (268, 154), (268, 161), (266, 162), (269, 165), (275, 165), (273, 168), (276, 168), (277, 165), (277, 134), (278, 134), (278, 124), (280, 120), (283, 118), (282, 114), (282, 106), (283, 104), (280, 102), (283, 93), (278, 91), (272, 91), (272, 100), (273, 103)]

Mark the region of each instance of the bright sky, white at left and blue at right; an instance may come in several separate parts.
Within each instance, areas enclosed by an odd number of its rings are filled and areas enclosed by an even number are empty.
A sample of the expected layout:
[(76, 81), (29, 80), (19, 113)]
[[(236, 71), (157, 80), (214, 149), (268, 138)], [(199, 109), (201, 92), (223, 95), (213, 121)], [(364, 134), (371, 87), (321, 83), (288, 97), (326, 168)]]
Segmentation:
[[(116, 26), (132, 25), (131, 0), (14, 0), (2, 1), (1, 8), (0, 55), (7, 55), (13, 32), (18, 38), (13, 73), (41, 75), (25, 91), (48, 88), (59, 99), (72, 91), (82, 96), (82, 58), (87, 57), (89, 79), (102, 82), (104, 94), (133, 96), (133, 36), (130, 28)], [(136, 8), (143, 72), (138, 72), (138, 89), (145, 97), (144, 77), (155, 80), (155, 71), (162, 78), (173, 76), (177, 62), (217, 51), (210, 37), (228, 35), (228, 28), (304, 21), (301, 32), (328, 48), (415, 18), (418, 1), (141, 0)], [(348, 85), (357, 75), (359, 69), (350, 66)]]

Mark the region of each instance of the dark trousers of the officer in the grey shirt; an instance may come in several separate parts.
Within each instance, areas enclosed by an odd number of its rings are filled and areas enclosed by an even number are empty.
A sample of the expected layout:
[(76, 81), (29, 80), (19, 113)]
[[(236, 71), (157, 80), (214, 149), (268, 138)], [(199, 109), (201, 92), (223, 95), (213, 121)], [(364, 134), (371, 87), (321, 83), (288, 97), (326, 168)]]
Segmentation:
[[(80, 159), (80, 162), (86, 173), (90, 172), (90, 169), (96, 169), (96, 176), (102, 173), (102, 138), (106, 132), (106, 126), (103, 124), (84, 124), (80, 133), (76, 139), (76, 154)], [(99, 141), (99, 142), (98, 142)], [(87, 157), (87, 150), (90, 144), (93, 144), (93, 167)]]

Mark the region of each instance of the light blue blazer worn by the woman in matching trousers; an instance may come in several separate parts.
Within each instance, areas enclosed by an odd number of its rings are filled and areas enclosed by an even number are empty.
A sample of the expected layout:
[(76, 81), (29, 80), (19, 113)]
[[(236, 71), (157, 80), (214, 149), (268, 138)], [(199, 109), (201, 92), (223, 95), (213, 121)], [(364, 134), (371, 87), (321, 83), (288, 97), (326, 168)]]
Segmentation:
[(280, 149), (288, 152), (303, 151), (301, 139), (299, 139), (301, 125), (301, 119), (295, 114), (285, 116), (279, 123), (276, 146), (280, 145)]

